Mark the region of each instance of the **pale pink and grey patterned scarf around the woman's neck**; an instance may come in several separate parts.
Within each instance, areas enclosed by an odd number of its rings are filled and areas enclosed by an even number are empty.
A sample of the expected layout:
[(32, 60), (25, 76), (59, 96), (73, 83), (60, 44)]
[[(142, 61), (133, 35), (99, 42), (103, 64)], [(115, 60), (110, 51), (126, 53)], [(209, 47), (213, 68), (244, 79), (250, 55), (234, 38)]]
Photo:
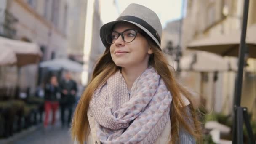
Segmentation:
[(103, 144), (154, 144), (168, 121), (171, 93), (153, 67), (138, 77), (128, 94), (120, 71), (96, 89), (90, 108)]

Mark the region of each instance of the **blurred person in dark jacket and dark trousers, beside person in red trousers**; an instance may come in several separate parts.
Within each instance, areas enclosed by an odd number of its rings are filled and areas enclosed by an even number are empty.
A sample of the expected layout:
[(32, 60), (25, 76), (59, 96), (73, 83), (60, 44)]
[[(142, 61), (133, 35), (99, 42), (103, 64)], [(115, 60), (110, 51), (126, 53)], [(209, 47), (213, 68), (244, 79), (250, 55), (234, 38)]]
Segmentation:
[[(70, 72), (64, 72), (64, 80), (61, 81), (61, 99), (60, 99), (60, 108), (61, 108), (61, 125), (64, 127), (67, 125), (70, 127), (73, 106), (76, 101), (77, 93), (77, 83), (72, 80)], [(68, 115), (65, 115), (66, 110)]]

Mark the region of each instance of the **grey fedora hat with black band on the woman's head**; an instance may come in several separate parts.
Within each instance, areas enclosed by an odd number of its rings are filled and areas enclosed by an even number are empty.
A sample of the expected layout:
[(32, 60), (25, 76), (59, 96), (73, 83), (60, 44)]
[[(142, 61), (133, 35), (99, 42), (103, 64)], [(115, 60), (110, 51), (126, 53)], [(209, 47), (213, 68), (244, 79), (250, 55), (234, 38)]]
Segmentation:
[[(151, 9), (138, 4), (130, 4), (127, 8), (120, 14), (120, 16), (112, 22), (104, 24), (100, 29), (100, 37), (102, 43), (105, 47), (109, 46), (106, 41), (106, 35), (112, 31), (113, 26), (118, 23), (126, 21), (128, 23), (134, 24), (140, 29), (142, 29), (155, 44), (160, 48), (161, 37), (162, 37), (162, 25), (157, 16), (157, 14)], [(161, 48), (160, 48), (161, 50)]]

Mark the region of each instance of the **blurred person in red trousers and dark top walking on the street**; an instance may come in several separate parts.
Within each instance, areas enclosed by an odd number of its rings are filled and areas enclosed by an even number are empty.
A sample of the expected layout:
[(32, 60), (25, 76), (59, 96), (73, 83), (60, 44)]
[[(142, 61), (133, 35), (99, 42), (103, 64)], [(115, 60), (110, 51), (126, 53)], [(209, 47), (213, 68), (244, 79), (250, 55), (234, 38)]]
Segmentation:
[(51, 124), (54, 125), (56, 120), (56, 112), (59, 108), (59, 100), (60, 97), (60, 89), (58, 85), (58, 80), (56, 76), (50, 77), (50, 82), (45, 85), (45, 121), (44, 121), (44, 128), (48, 126), (48, 117), (49, 113), (52, 111), (52, 122)]

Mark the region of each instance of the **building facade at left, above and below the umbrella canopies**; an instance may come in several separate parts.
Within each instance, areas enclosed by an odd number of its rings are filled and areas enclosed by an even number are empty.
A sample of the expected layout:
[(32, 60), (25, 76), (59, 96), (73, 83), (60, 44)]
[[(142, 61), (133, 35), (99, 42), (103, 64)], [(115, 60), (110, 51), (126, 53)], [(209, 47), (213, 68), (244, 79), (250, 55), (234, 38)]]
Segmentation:
[[(67, 57), (70, 11), (68, 2), (1, 0), (0, 34), (15, 40), (37, 43), (43, 52), (42, 61)], [(38, 64), (21, 67), (20, 87), (29, 87), (33, 93), (38, 82), (38, 72)]]

